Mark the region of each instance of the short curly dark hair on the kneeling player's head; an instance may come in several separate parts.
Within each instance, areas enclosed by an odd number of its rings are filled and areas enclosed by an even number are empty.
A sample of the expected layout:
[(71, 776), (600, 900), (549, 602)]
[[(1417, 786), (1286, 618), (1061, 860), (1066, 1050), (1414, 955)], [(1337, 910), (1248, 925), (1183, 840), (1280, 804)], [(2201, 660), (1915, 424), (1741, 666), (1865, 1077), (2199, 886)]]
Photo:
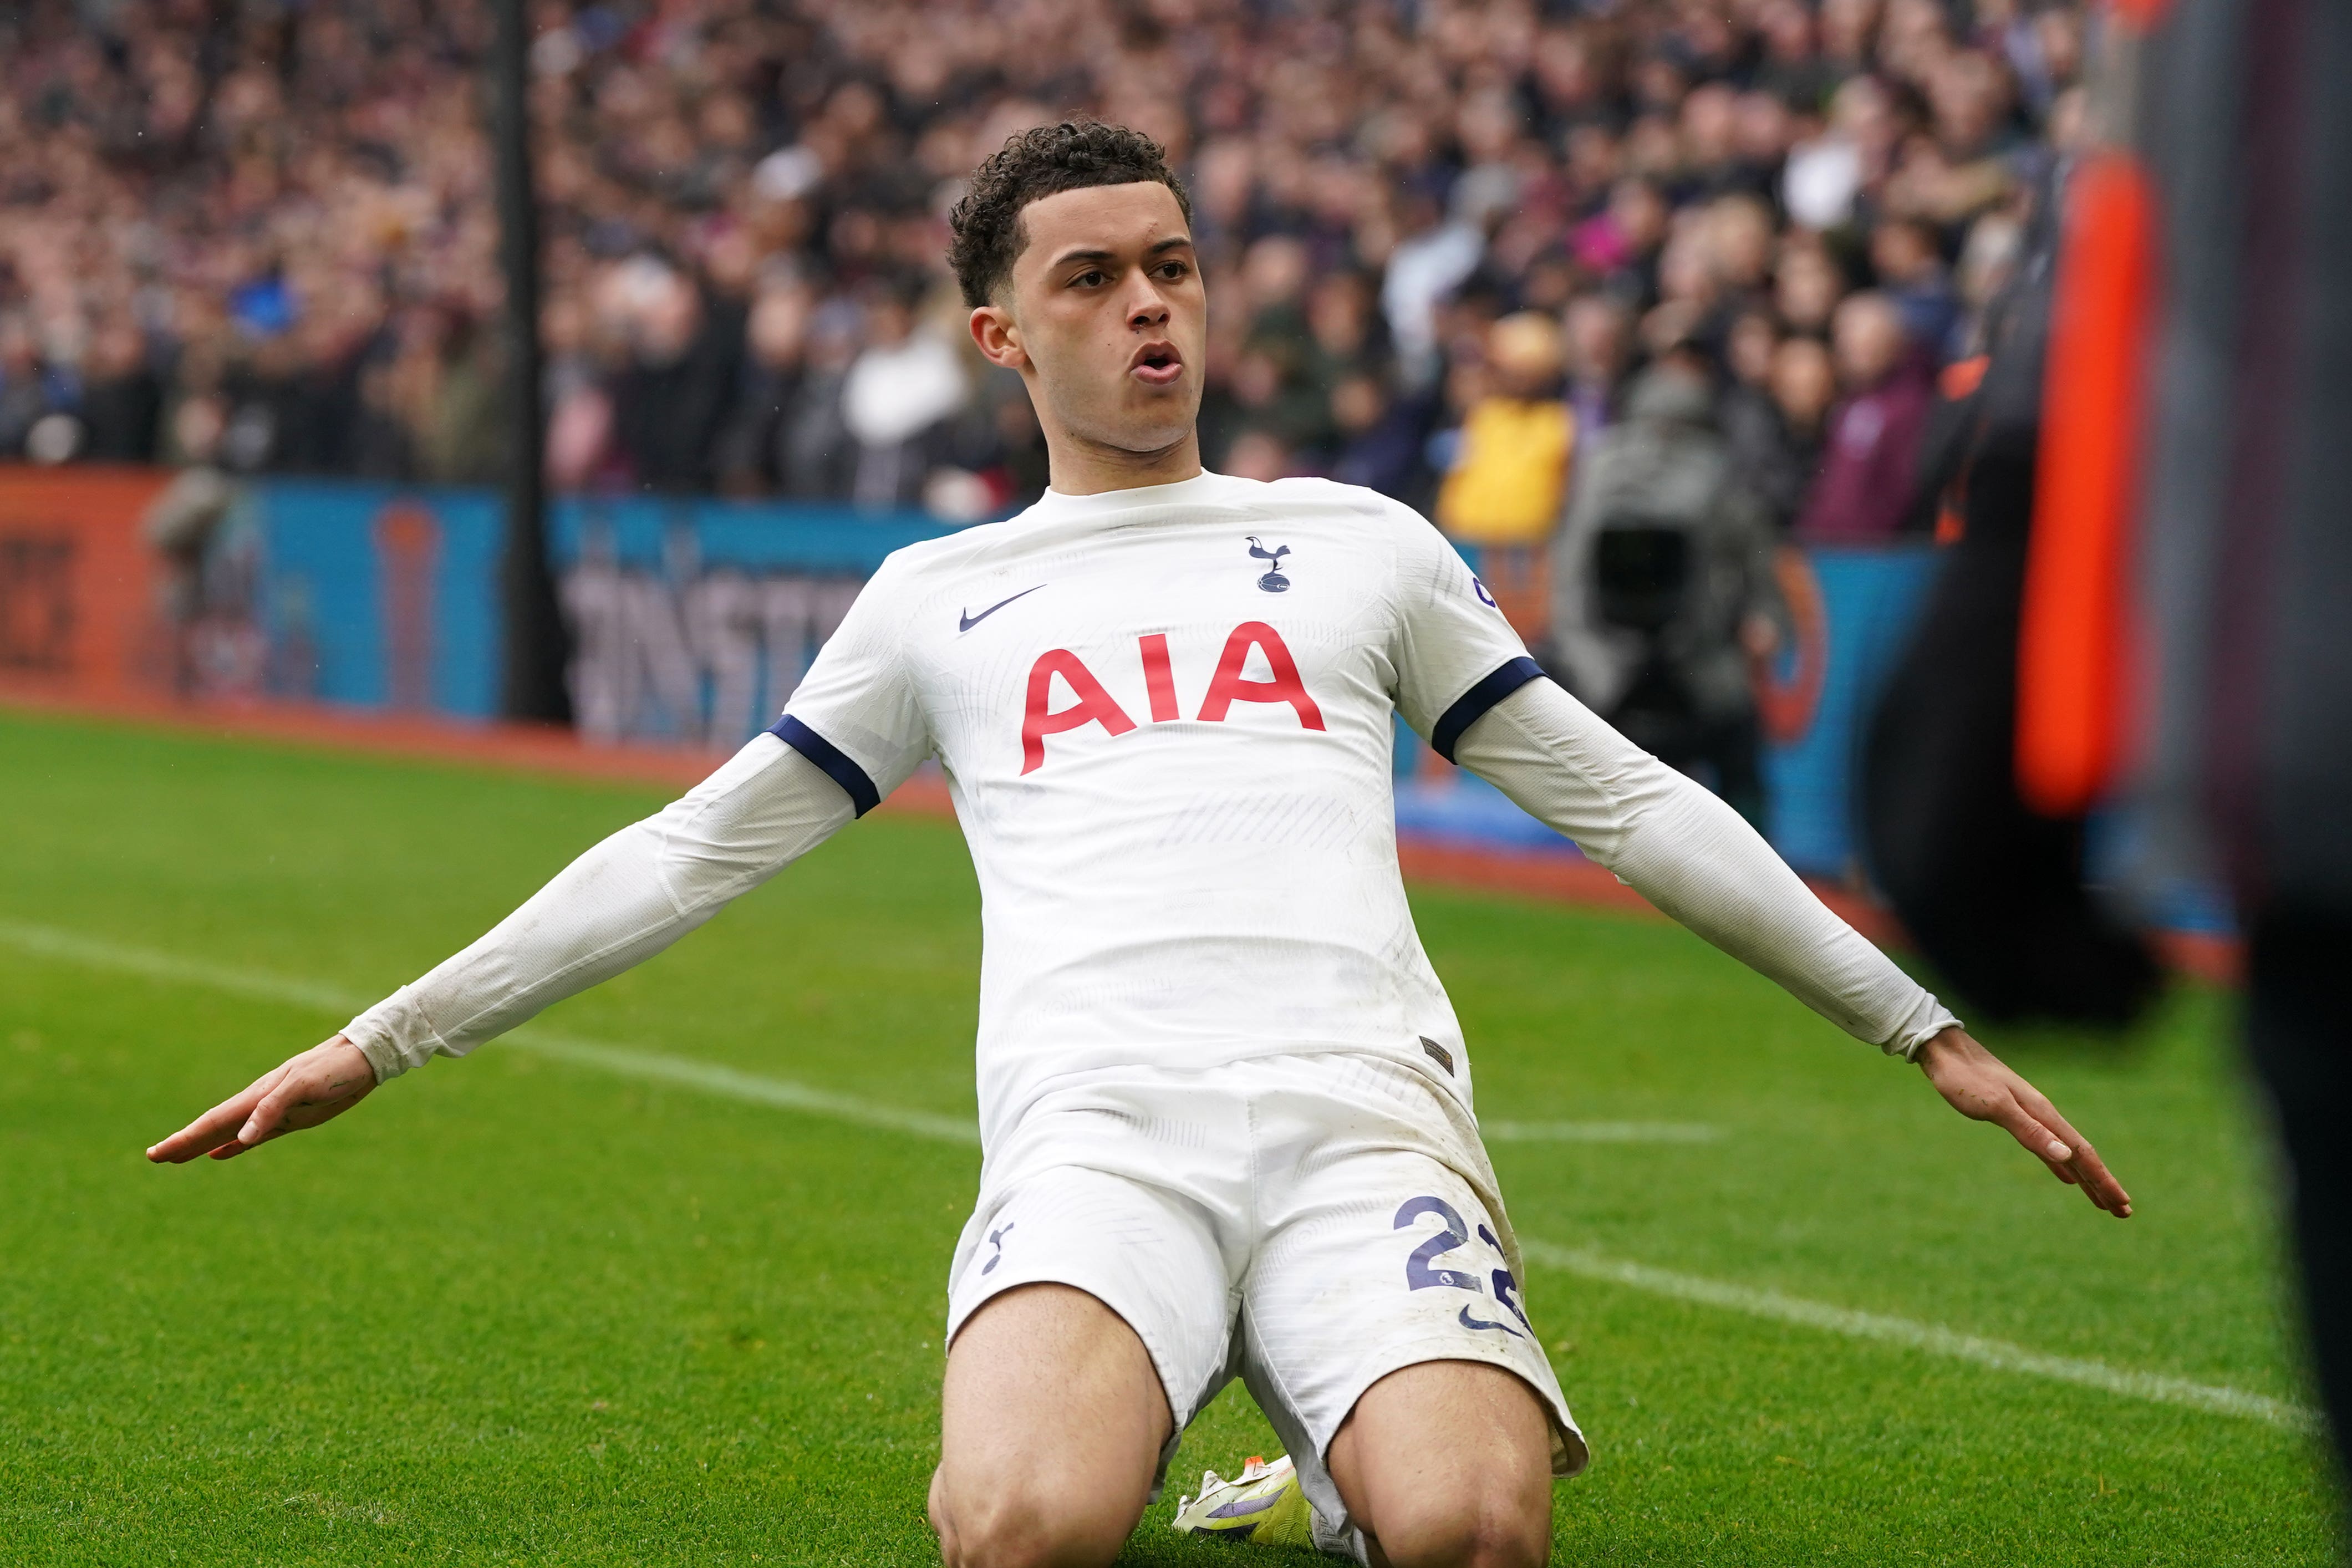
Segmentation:
[(1143, 132), (1101, 120), (1037, 125), (971, 172), (971, 190), (948, 214), (948, 266), (967, 306), (985, 306), (1014, 273), (1028, 244), (1021, 209), (1035, 200), (1087, 186), (1134, 186), (1157, 181), (1176, 195), (1185, 223), (1192, 197), (1169, 169), (1167, 150)]

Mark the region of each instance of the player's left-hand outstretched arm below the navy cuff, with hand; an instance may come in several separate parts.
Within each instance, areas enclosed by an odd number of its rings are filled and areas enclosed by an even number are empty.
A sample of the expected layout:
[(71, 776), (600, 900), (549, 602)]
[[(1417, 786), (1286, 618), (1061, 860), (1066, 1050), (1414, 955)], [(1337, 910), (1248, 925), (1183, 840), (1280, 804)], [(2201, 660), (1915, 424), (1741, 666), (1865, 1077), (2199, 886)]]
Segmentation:
[(221, 1100), (148, 1159), (233, 1159), (332, 1121), (383, 1079), (433, 1056), (463, 1056), (642, 964), (851, 816), (828, 773), (776, 736), (757, 736), (682, 799), (567, 865), (482, 940)]

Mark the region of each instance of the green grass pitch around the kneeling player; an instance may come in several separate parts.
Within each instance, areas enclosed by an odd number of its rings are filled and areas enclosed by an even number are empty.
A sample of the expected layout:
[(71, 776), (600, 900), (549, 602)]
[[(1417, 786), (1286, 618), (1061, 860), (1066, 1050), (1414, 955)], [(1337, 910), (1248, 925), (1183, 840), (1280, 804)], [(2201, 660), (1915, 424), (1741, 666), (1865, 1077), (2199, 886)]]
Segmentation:
[[(644, 790), (0, 715), (0, 924), (379, 994)], [(868, 820), (557, 1027), (969, 1117), (978, 896)], [(1423, 891), (1522, 1234), (2305, 1399), (2227, 999), (1992, 1037), (2114, 1222), (1663, 924)], [(339, 1013), (0, 940), (0, 1561), (922, 1563), (976, 1154), (524, 1048), (228, 1166), (143, 1145)], [(1595, 1443), (1559, 1563), (2321, 1563), (2307, 1436), (1534, 1267)], [(1268, 1446), (1228, 1392), (1129, 1563)], [(1244, 1552), (1247, 1556), (1247, 1552)], [(1305, 1559), (1294, 1559), (1305, 1561)]]

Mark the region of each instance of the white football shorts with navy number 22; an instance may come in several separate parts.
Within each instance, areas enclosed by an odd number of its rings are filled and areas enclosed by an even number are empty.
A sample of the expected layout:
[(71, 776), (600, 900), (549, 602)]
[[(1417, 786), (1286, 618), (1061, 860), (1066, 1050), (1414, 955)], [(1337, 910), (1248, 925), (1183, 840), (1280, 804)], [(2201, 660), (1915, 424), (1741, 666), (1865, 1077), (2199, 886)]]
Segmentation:
[[(1552, 1472), (1585, 1465), (1508, 1220), (1482, 1192), (1494, 1175), (1468, 1114), (1385, 1058), (1077, 1074), (990, 1150), (948, 1272), (948, 1340), (1000, 1291), (1087, 1291), (1143, 1340), (1176, 1432), (1240, 1375), (1298, 1467), (1317, 1537), (1348, 1549), (1324, 1455), (1399, 1366), (1517, 1373), (1552, 1418)], [(1174, 1450), (1169, 1436), (1162, 1476)]]

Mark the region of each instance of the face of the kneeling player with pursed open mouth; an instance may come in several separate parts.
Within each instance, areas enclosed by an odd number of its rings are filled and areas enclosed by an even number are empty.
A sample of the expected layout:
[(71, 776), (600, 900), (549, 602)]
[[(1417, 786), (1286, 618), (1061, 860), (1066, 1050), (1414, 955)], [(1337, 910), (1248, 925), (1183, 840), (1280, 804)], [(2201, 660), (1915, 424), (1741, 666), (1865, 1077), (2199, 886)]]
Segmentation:
[(1040, 418), (1082, 442), (1183, 442), (1200, 414), (1209, 299), (1176, 195), (1141, 181), (1063, 190), (1023, 207), (1021, 226), (1011, 308), (974, 310), (981, 350), (1028, 371)]

